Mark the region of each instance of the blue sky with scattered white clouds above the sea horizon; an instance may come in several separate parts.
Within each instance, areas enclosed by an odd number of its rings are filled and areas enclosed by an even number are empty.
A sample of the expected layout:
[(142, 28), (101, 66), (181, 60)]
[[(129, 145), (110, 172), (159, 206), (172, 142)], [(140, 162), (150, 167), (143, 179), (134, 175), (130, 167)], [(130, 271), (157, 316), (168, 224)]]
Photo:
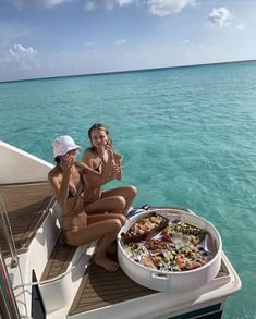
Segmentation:
[(256, 59), (255, 0), (0, 0), (0, 81)]

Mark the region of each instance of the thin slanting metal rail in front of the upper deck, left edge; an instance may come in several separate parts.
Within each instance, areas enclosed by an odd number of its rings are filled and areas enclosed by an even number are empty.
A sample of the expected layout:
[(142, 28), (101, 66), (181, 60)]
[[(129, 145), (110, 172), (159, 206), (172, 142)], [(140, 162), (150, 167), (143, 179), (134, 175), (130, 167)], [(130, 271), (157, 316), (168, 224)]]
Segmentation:
[(14, 244), (11, 224), (8, 218), (7, 208), (5, 208), (1, 194), (0, 194), (0, 216), (1, 216), (3, 235), (5, 237), (5, 241), (11, 254), (11, 267), (14, 268), (17, 266), (17, 253), (16, 253), (16, 247)]

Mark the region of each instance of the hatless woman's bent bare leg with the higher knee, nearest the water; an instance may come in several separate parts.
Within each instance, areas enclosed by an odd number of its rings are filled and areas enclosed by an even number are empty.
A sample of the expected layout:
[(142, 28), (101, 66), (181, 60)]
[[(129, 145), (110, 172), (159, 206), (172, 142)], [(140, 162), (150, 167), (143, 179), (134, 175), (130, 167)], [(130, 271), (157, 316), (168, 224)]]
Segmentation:
[(107, 199), (109, 197), (122, 196), (125, 199), (125, 206), (124, 206), (123, 210), (121, 211), (121, 213), (126, 216), (127, 210), (131, 207), (131, 204), (132, 204), (134, 197), (136, 196), (136, 194), (137, 194), (136, 187), (133, 185), (130, 185), (130, 186), (121, 186), (118, 188), (103, 191), (101, 198)]

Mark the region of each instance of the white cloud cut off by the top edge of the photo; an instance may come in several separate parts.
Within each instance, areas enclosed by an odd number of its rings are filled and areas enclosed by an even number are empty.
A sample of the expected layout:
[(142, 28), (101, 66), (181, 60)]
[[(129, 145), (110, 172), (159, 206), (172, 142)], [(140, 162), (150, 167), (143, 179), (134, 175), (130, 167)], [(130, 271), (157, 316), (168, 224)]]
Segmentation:
[(164, 16), (178, 13), (187, 5), (194, 5), (194, 0), (149, 0), (149, 11), (151, 14)]

